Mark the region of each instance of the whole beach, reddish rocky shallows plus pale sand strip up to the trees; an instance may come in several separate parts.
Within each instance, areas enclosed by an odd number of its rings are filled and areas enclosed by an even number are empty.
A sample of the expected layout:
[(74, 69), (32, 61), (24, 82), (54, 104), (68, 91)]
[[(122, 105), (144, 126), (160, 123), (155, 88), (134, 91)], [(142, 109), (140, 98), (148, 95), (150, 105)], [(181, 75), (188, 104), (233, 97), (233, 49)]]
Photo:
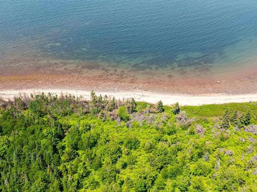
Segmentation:
[[(45, 61), (23, 59), (7, 60), (0, 70), (0, 96), (12, 98), (19, 93), (51, 92), (72, 94), (89, 98), (90, 91), (116, 98), (132, 98), (137, 101), (164, 104), (179, 102), (182, 105), (201, 105), (229, 102), (257, 101), (257, 66), (229, 69), (227, 75), (208, 71), (189, 77), (169, 77), (172, 70), (138, 73), (136, 70), (102, 68), (96, 63)], [(254, 62), (255, 63), (255, 62)], [(69, 66), (69, 68), (65, 68)], [(73, 65), (72, 65), (73, 66)], [(81, 68), (84, 66), (84, 68)], [(117, 69), (117, 70), (116, 70)]]

